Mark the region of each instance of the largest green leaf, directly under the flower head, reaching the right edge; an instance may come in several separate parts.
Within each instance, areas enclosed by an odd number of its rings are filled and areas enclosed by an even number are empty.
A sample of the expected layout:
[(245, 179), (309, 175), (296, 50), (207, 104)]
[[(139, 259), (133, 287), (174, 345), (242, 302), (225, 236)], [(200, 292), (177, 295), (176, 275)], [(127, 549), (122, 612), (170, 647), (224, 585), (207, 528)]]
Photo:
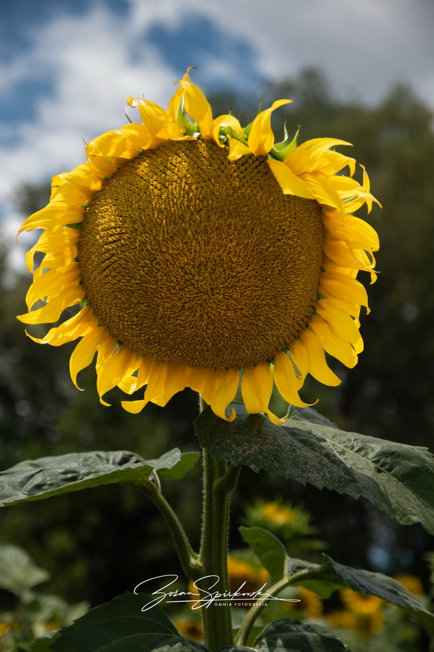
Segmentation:
[(209, 408), (196, 419), (200, 444), (211, 455), (365, 497), (398, 523), (421, 522), (434, 534), (434, 456), (426, 448), (341, 431), (311, 408), (296, 408), (285, 426), (234, 408), (232, 423)]

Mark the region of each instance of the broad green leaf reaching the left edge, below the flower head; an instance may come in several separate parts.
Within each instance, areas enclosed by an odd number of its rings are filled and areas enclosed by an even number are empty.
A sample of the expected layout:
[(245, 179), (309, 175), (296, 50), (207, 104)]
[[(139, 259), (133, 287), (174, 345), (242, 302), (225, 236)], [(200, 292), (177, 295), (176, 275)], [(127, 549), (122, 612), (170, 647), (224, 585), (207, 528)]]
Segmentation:
[(183, 462), (178, 448), (165, 453), (158, 460), (143, 460), (129, 451), (94, 451), (69, 453), (56, 457), (19, 462), (0, 473), (0, 506), (14, 505), (24, 500), (42, 500), (62, 493), (71, 493), (101, 484), (143, 484), (153, 469), (176, 468), (180, 474), (192, 465), (196, 453), (187, 454)]

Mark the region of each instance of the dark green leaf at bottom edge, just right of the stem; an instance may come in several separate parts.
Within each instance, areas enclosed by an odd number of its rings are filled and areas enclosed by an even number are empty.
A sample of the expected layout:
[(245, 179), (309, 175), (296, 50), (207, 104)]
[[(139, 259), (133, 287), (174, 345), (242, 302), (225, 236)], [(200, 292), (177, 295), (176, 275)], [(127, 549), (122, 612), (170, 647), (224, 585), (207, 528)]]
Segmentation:
[[(280, 618), (268, 624), (256, 637), (257, 652), (351, 652), (349, 647), (322, 625)], [(220, 652), (251, 652), (247, 647), (223, 647)]]

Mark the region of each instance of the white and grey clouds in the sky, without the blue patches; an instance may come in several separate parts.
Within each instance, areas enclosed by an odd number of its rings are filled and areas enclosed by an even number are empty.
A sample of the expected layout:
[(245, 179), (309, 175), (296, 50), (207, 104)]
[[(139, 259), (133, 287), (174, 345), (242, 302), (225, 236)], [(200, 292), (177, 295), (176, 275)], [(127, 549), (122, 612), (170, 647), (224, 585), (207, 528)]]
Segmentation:
[[(434, 106), (433, 6), (424, 0), (129, 2), (130, 13), (123, 17), (103, 1), (90, 3), (86, 14), (57, 12), (27, 34), (29, 50), (17, 52), (7, 65), (0, 63), (0, 92), (35, 78), (50, 79), (54, 88), (50, 97), (37, 99), (31, 121), (8, 127), (10, 144), (0, 147), (0, 201), (11, 232), (17, 226), (8, 202), (11, 189), (81, 163), (83, 139), (125, 124), (129, 95), (145, 92), (165, 106), (183, 70), (172, 70), (144, 39), (158, 21), (176, 30), (189, 17), (208, 17), (229, 40), (250, 43), (264, 77), (277, 80), (304, 66), (320, 66), (337, 92), (349, 90), (365, 101), (378, 101), (392, 82), (403, 79)], [(239, 86), (247, 86), (247, 66), (235, 70), (229, 53), (220, 50), (191, 62), (200, 68), (200, 77), (211, 87), (215, 79), (238, 75)]]

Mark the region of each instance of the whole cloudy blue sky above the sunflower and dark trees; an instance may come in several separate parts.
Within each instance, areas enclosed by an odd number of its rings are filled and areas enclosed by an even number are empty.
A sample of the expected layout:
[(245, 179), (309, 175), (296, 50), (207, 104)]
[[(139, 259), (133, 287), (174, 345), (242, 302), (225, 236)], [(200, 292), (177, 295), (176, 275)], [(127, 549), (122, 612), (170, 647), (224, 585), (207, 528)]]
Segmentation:
[[(10, 196), (83, 161), (125, 124), (125, 99), (167, 103), (187, 66), (206, 90), (322, 68), (338, 95), (406, 81), (434, 106), (431, 0), (14, 0), (0, 7), (0, 215)], [(20, 252), (20, 256), (22, 253)]]

